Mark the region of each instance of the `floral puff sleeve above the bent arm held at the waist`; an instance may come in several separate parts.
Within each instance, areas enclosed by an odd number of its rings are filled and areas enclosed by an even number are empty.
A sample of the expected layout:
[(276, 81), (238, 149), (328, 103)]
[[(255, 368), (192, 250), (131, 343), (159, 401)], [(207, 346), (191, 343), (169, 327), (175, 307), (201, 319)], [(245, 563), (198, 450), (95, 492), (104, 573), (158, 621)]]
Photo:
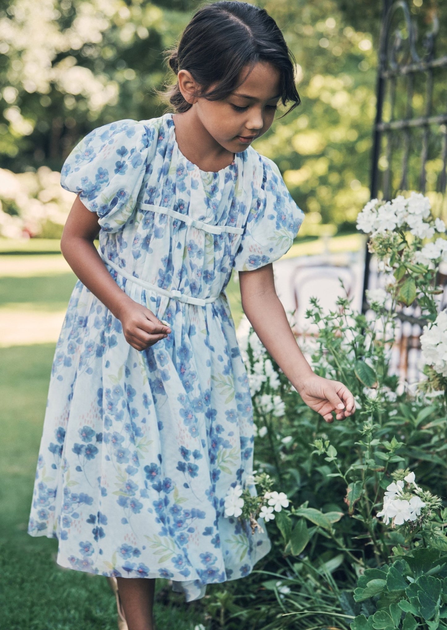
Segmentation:
[(103, 230), (117, 232), (131, 217), (154, 135), (135, 120), (108, 123), (87, 134), (62, 166), (62, 188), (80, 193)]

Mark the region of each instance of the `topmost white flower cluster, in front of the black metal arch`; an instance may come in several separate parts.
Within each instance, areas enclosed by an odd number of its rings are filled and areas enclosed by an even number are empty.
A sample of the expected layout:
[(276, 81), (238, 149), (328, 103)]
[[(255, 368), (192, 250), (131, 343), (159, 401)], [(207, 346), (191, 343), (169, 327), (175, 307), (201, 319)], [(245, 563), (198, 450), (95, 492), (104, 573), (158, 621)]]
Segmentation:
[(434, 236), (435, 230), (446, 231), (444, 221), (441, 219), (436, 219), (434, 226), (431, 222), (424, 221), (431, 218), (430, 210), (430, 200), (422, 193), (412, 192), (408, 198), (398, 195), (386, 202), (372, 199), (357, 215), (357, 229), (375, 236), (402, 227), (408, 228), (417, 238), (430, 239)]

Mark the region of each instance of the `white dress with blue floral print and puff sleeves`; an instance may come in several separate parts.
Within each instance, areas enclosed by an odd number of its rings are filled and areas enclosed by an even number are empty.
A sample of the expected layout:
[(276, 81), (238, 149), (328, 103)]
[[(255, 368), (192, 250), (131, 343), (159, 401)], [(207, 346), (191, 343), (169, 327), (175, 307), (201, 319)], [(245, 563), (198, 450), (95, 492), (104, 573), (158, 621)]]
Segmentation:
[[(187, 601), (248, 575), (267, 533), (225, 517), (253, 464), (247, 372), (224, 291), (290, 248), (303, 220), (267, 157), (248, 147), (217, 173), (178, 149), (171, 113), (93, 130), (62, 168), (100, 223), (119, 287), (170, 324), (138, 352), (80, 281), (55, 350), (28, 524), (57, 563), (170, 578)], [(255, 493), (255, 486), (248, 486)]]

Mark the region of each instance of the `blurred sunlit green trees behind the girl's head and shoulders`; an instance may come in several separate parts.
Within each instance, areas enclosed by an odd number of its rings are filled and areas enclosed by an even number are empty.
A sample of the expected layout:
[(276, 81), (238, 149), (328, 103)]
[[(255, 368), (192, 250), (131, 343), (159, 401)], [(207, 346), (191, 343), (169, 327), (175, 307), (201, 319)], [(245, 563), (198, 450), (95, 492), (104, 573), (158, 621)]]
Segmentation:
[[(57, 171), (78, 140), (160, 116), (163, 50), (197, 0), (0, 1), (1, 166)], [(253, 145), (274, 159), (306, 225), (355, 221), (369, 198), (382, 3), (258, 0), (297, 61), (302, 104)], [(409, 0), (417, 17), (432, 0)], [(277, 118), (283, 112), (278, 112)]]

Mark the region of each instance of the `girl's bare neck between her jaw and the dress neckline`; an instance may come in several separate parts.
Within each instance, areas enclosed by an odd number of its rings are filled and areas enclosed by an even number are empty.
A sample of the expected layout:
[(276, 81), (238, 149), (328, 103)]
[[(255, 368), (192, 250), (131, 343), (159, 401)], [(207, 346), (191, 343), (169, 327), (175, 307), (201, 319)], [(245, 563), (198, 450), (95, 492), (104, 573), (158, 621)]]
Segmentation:
[(235, 154), (224, 149), (204, 127), (194, 108), (172, 115), (178, 149), (202, 171), (220, 171), (233, 163)]

